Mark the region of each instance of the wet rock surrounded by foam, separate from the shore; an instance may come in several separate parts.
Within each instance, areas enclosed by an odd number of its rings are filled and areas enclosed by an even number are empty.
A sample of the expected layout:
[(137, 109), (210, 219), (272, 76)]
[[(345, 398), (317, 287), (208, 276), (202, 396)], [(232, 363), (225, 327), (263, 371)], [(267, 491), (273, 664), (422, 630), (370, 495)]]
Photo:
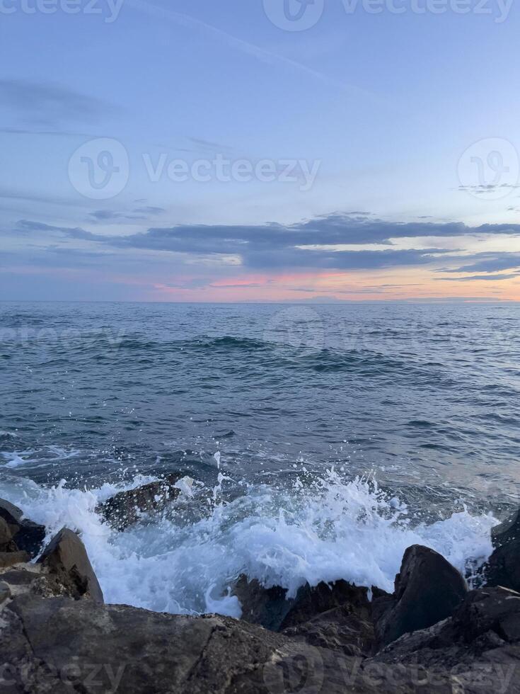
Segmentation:
[(96, 512), (115, 530), (125, 530), (129, 525), (137, 523), (143, 513), (162, 511), (167, 504), (175, 501), (181, 491), (175, 487), (178, 482), (184, 482), (188, 488), (193, 484), (190, 477), (180, 479), (177, 474), (170, 474), (158, 482), (120, 491), (119, 494), (103, 501), (103, 504), (98, 504)]

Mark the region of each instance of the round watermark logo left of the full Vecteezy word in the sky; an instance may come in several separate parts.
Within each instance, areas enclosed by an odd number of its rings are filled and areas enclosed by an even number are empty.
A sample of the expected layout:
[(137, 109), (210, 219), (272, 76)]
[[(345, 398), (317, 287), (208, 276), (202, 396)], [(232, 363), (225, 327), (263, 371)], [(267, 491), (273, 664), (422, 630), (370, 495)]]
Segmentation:
[(91, 200), (115, 198), (128, 178), (127, 150), (109, 137), (85, 142), (69, 159), (69, 181), (78, 193)]

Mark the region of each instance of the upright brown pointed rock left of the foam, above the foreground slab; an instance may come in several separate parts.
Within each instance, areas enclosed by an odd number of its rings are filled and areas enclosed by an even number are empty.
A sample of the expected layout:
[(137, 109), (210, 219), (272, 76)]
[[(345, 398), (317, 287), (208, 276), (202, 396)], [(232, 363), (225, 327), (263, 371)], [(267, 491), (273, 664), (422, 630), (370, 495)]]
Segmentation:
[(85, 546), (72, 530), (62, 528), (45, 547), (38, 562), (47, 569), (50, 579), (63, 586), (68, 595), (103, 603), (103, 592)]

